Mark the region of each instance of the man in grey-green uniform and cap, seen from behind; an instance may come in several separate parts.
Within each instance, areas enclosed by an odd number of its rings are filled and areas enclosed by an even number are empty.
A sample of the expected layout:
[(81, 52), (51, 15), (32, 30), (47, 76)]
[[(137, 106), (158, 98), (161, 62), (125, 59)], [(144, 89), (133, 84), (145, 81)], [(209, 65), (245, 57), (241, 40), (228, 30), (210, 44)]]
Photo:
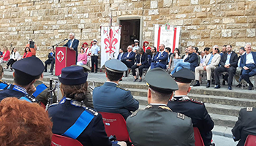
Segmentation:
[(195, 146), (191, 118), (166, 106), (178, 90), (177, 83), (165, 70), (151, 69), (145, 77), (148, 106), (127, 118), (129, 137), (135, 146)]

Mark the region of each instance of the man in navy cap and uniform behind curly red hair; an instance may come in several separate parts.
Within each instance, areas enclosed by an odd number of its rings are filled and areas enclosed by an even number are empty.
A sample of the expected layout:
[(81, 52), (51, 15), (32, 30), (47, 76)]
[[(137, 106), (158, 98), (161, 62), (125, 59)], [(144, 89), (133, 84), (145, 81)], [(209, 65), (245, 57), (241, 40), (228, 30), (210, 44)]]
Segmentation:
[(31, 96), (36, 88), (35, 80), (39, 79), (44, 71), (44, 64), (37, 57), (23, 58), (12, 65), (14, 83), (10, 84), (5, 91), (0, 92), (0, 101), (6, 97), (16, 97), (27, 101), (37, 101)]

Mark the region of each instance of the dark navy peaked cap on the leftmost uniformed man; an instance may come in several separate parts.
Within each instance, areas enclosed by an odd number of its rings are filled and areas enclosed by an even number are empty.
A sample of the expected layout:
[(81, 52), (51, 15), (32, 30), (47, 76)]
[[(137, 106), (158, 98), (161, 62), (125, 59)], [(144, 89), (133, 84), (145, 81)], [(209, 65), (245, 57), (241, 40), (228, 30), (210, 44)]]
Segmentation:
[(26, 74), (31, 77), (37, 77), (44, 71), (44, 64), (37, 57), (23, 58), (12, 65), (16, 74)]

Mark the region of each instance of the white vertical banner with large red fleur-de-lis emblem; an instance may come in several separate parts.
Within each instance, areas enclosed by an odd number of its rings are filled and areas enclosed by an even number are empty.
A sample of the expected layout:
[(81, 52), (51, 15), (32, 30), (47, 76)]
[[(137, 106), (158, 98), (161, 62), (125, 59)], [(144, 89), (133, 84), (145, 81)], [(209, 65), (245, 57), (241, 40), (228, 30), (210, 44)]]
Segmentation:
[(120, 48), (121, 27), (102, 27), (101, 29), (101, 67), (106, 61), (117, 58)]

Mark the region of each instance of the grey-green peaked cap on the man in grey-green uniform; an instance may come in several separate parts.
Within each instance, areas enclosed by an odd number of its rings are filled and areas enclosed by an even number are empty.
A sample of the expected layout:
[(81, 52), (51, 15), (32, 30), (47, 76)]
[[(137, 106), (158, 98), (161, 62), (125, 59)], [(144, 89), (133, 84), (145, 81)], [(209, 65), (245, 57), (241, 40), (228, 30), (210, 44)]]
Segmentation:
[(173, 93), (178, 90), (178, 85), (164, 69), (151, 69), (145, 77), (148, 86), (159, 93)]

